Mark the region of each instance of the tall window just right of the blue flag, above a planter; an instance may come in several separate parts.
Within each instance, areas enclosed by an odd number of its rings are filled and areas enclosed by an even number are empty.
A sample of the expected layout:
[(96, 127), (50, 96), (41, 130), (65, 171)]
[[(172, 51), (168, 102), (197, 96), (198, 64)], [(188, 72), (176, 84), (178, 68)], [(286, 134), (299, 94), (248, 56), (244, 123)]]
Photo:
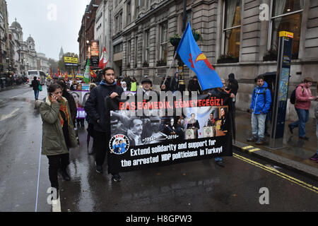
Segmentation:
[(240, 57), (241, 0), (225, 0), (223, 15), (223, 54)]

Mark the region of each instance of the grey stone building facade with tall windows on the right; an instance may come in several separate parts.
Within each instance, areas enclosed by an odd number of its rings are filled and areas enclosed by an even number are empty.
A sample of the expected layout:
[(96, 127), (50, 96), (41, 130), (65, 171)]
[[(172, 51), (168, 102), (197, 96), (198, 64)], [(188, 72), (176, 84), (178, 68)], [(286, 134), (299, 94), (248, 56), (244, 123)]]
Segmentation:
[[(112, 25), (114, 67), (137, 79), (150, 76), (159, 84), (174, 55), (169, 39), (182, 35), (183, 1), (113, 0), (113, 4), (114, 16), (122, 12), (121, 25)], [(254, 78), (277, 69), (281, 30), (295, 35), (289, 93), (305, 77), (317, 81), (317, 15), (315, 0), (187, 0), (187, 20), (202, 36), (197, 44), (220, 78), (235, 74), (240, 85), (237, 107), (242, 110), (249, 109)], [(177, 61), (169, 76), (175, 71)], [(187, 67), (184, 73), (187, 85), (194, 73)], [(296, 117), (293, 105), (288, 104), (287, 116)]]

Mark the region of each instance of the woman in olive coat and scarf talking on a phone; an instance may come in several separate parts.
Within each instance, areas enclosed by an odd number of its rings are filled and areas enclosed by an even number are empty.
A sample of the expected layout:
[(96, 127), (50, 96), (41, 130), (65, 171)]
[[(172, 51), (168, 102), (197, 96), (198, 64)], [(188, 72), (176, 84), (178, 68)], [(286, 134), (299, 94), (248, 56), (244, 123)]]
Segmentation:
[(49, 181), (51, 187), (56, 189), (59, 198), (59, 181), (57, 178), (60, 170), (64, 180), (70, 177), (66, 170), (69, 165), (69, 148), (76, 148), (77, 141), (73, 122), (70, 117), (69, 103), (62, 97), (62, 88), (59, 84), (49, 85), (48, 97), (40, 103), (42, 118), (42, 155), (47, 155), (49, 160)]

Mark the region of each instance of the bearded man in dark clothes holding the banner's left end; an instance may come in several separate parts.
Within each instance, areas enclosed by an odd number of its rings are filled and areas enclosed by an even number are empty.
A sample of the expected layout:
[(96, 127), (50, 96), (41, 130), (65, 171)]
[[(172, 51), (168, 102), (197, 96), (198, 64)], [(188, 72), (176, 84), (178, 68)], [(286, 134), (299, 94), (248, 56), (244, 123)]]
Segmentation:
[[(93, 88), (90, 91), (90, 97), (86, 101), (85, 110), (91, 122), (94, 124), (94, 142), (95, 143), (95, 164), (96, 172), (102, 173), (102, 165), (105, 161), (107, 144), (110, 141), (110, 124), (107, 121), (110, 111), (107, 111), (107, 104), (105, 104), (105, 98), (120, 97), (124, 90), (119, 87), (114, 81), (115, 72), (114, 69), (107, 67), (103, 71), (102, 81), (100, 85)], [(108, 153), (108, 152), (107, 152)], [(121, 177), (118, 172), (110, 172), (114, 182), (121, 181)]]

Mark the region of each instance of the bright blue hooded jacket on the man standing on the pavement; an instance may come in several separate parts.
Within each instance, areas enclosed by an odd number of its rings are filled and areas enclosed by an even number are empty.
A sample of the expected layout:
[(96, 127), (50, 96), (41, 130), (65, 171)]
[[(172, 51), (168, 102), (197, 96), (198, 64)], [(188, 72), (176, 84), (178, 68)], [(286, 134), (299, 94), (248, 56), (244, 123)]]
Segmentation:
[(254, 114), (267, 114), (271, 108), (271, 90), (268, 88), (268, 84), (264, 81), (264, 85), (259, 87), (257, 85), (252, 93), (252, 102), (250, 109), (253, 109)]

